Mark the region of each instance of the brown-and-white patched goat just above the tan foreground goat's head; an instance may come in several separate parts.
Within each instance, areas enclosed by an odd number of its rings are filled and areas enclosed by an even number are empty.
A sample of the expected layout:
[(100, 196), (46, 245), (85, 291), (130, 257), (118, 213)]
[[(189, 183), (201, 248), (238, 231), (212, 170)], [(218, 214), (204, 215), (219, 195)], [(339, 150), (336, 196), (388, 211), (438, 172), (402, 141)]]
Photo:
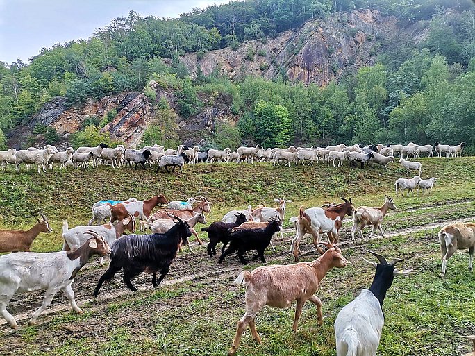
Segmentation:
[(300, 207), (299, 217), (297, 222), (297, 234), (292, 239), (290, 246), (290, 253), (294, 254), (295, 261), (299, 261), (299, 244), (303, 236), (308, 232), (313, 236), (313, 244), (315, 248), (319, 250), (320, 235), (330, 233), (328, 239), (330, 243), (338, 242), (338, 231), (342, 227), (342, 220), (345, 215), (352, 216), (354, 206), (351, 203), (351, 198), (348, 201), (342, 198), (344, 203), (327, 207), (310, 207), (303, 211), (303, 207)]

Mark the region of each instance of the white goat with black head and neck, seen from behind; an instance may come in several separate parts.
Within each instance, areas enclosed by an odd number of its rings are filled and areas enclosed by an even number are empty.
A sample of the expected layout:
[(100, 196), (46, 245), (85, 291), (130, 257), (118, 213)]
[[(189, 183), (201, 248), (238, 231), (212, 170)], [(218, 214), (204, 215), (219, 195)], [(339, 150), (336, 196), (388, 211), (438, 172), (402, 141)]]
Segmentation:
[(387, 263), (385, 258), (372, 253), (379, 264), (365, 260), (374, 266), (376, 273), (371, 287), (363, 289), (351, 303), (345, 305), (335, 320), (337, 356), (376, 355), (381, 330), (384, 325), (383, 302), (394, 276), (404, 276), (412, 269), (398, 271), (394, 266), (403, 260), (396, 258)]

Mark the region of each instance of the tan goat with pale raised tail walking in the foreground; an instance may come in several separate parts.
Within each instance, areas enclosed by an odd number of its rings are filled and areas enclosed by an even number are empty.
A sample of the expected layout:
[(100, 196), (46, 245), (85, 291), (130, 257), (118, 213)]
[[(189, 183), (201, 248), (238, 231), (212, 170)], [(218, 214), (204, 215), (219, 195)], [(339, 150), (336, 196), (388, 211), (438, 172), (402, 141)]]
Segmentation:
[(320, 282), (332, 267), (344, 268), (350, 262), (342, 255), (337, 246), (324, 244), (328, 250), (317, 260), (300, 262), (286, 266), (261, 266), (252, 272), (242, 271), (234, 281), (236, 285), (244, 284), (246, 288), (246, 312), (238, 321), (233, 344), (228, 356), (238, 351), (242, 333), (249, 325), (254, 341), (260, 343), (256, 331), (256, 315), (265, 305), (276, 308), (289, 307), (297, 301), (292, 330), (297, 331), (297, 324), (303, 305), (307, 300), (317, 306), (317, 324), (323, 324), (322, 301), (315, 295)]

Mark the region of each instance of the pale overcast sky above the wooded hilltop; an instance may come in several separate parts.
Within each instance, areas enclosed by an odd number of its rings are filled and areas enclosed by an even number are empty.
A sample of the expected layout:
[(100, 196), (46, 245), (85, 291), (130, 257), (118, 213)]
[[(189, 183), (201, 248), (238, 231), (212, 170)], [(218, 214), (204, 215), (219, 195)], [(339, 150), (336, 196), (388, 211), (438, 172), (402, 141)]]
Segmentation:
[(229, 0), (0, 0), (0, 61), (24, 62), (42, 47), (89, 38), (110, 20), (134, 10), (177, 17), (192, 8)]

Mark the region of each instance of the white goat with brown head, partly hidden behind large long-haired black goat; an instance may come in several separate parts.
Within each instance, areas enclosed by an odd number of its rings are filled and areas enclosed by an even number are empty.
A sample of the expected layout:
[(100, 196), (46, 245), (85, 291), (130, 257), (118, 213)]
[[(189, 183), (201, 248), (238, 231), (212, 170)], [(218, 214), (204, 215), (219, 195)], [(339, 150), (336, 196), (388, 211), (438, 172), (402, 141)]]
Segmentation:
[[(88, 233), (95, 232), (107, 242), (109, 246), (113, 246), (116, 239), (124, 234), (125, 230), (128, 230), (132, 233), (135, 232), (135, 219), (131, 214), (122, 219), (117, 224), (113, 225), (112, 223), (106, 223), (101, 226), (76, 226), (74, 228), (69, 228), (67, 226), (67, 221), (63, 220), (63, 251), (76, 250), (85, 244), (85, 241), (88, 240)], [(99, 258), (99, 264), (103, 266), (104, 257)]]

